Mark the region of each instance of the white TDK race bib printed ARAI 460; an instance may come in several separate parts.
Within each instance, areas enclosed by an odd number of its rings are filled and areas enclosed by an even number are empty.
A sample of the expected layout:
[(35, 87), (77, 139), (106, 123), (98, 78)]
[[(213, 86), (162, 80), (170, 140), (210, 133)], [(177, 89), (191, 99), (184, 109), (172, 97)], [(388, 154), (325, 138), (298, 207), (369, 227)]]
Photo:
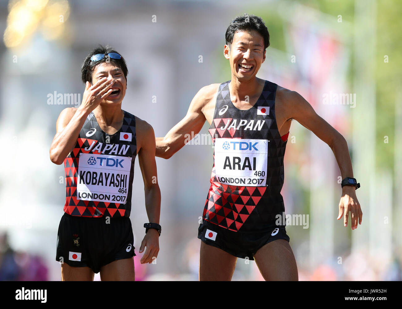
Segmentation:
[(217, 180), (225, 185), (266, 186), (268, 142), (266, 139), (215, 139)]

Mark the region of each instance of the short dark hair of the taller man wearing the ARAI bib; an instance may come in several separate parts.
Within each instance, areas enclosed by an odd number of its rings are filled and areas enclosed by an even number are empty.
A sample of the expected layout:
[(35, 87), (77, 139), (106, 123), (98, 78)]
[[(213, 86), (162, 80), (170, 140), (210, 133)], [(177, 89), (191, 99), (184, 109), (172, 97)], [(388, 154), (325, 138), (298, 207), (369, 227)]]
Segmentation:
[(226, 30), (226, 44), (232, 45), (233, 37), (236, 31), (252, 31), (255, 30), (264, 39), (264, 50), (269, 46), (269, 32), (265, 23), (261, 17), (255, 15), (244, 15), (236, 16), (230, 23), (228, 29)]

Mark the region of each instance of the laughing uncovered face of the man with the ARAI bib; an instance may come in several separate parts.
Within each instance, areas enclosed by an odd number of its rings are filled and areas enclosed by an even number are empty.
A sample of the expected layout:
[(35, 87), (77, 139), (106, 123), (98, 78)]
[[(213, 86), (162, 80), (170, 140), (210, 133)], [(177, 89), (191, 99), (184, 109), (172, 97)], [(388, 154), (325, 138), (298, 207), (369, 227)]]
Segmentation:
[(264, 39), (255, 30), (236, 31), (231, 46), (224, 47), (224, 56), (229, 59), (232, 77), (248, 81), (256, 76), (265, 60)]

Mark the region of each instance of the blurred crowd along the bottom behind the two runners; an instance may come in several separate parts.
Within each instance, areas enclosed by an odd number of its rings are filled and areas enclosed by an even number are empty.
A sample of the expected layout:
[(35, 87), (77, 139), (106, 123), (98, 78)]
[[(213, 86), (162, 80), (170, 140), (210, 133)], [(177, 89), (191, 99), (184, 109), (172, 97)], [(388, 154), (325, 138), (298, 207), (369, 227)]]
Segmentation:
[[(139, 263), (140, 256), (134, 257), (135, 280), (198, 280), (199, 239), (195, 238), (185, 246), (185, 254), (178, 259), (181, 274), (169, 271), (150, 275), (152, 265)], [(296, 257), (297, 260), (297, 257)], [(333, 257), (326, 263), (309, 268), (298, 263), (299, 281), (402, 281), (402, 259), (394, 256), (390, 263), (384, 257), (371, 257), (367, 252), (351, 253), (343, 261)], [(48, 268), (38, 255), (14, 251), (6, 233), (0, 235), (0, 281), (46, 281)], [(99, 274), (95, 281), (100, 280)], [(254, 261), (245, 263), (238, 259), (233, 280), (264, 280)]]

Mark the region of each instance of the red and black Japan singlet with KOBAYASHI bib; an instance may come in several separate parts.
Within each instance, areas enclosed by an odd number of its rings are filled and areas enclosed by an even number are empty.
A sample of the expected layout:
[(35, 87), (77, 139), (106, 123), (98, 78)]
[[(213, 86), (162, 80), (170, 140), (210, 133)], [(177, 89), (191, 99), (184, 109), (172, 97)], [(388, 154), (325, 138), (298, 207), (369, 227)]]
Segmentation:
[(129, 217), (134, 161), (137, 156), (135, 116), (124, 112), (115, 134), (100, 129), (91, 112), (74, 149), (64, 160), (64, 212), (82, 217)]

